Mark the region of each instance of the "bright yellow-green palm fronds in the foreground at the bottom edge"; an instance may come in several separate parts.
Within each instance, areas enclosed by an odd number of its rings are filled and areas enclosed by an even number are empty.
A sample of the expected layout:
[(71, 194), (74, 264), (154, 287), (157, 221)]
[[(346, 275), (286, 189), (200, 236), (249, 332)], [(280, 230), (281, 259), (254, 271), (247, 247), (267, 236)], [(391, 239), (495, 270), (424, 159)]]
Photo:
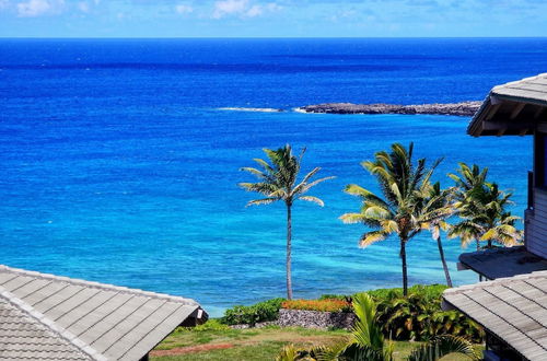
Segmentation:
[[(286, 346), (277, 361), (393, 361), (394, 345), (385, 340), (376, 319), (376, 305), (368, 293), (359, 293), (353, 299), (356, 324), (348, 341), (331, 346), (318, 346), (311, 349), (298, 349), (294, 345)], [(461, 353), (478, 360), (473, 345), (452, 335), (438, 336), (415, 348), (407, 360), (437, 361), (451, 354)]]

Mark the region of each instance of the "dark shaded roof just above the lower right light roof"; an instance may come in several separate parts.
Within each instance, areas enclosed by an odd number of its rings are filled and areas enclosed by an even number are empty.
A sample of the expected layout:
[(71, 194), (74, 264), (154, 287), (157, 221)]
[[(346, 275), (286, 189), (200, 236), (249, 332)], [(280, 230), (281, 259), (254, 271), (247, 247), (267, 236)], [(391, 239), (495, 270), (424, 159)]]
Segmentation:
[(459, 263), (488, 279), (547, 270), (547, 259), (524, 246), (502, 247), (459, 255)]

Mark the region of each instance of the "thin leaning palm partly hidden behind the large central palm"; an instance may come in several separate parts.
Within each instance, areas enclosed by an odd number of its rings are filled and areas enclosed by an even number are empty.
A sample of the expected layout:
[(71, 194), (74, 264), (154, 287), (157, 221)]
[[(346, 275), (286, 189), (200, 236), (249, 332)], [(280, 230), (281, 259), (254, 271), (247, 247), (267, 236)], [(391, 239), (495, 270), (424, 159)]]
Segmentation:
[(444, 277), (446, 278), (446, 286), (452, 288), (452, 279), (450, 277), (449, 266), (446, 265), (446, 259), (444, 257), (443, 244), (441, 241), (441, 231), (446, 231), (450, 224), (446, 222), (452, 212), (451, 199), (453, 197), (454, 189), (443, 189), (441, 190), (441, 184), (437, 182), (431, 186), (429, 199), (433, 200), (431, 208), (446, 210), (443, 218), (435, 219), (430, 223), (424, 223), (423, 228), (431, 232), (431, 236), (437, 241), (437, 246), (439, 247), (439, 255), (441, 256), (441, 263), (443, 265)]

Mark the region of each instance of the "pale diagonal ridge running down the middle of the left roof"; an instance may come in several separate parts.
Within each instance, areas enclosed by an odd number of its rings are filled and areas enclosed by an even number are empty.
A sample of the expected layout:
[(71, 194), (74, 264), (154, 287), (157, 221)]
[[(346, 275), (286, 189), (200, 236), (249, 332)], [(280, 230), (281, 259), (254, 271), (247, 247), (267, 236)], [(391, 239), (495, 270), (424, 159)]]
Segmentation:
[(23, 312), (25, 315), (28, 317), (35, 319), (38, 322), (40, 325), (46, 327), (49, 331), (59, 335), (59, 337), (63, 340), (66, 340), (68, 343), (72, 345), (75, 347), (80, 352), (84, 353), (85, 356), (89, 356), (92, 360), (96, 361), (106, 361), (107, 359), (97, 350), (82, 341), (81, 339), (78, 338), (71, 331), (58, 326), (54, 321), (49, 319), (46, 317), (44, 314), (40, 312), (36, 311), (33, 306), (31, 306), (28, 303), (25, 301), (21, 300), (7, 289), (4, 289), (2, 286), (0, 286), (0, 296), (5, 299), (10, 304), (15, 306), (18, 310)]

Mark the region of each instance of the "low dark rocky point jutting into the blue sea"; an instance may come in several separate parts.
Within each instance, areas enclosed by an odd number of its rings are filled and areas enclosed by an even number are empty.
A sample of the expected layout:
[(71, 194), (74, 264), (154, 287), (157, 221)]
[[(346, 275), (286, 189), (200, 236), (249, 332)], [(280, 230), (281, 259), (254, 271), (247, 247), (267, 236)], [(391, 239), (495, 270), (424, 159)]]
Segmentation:
[(305, 105), (294, 108), (299, 113), (323, 114), (438, 114), (473, 116), (480, 107), (480, 101), (461, 103), (434, 104), (353, 104), (353, 103), (324, 103)]

